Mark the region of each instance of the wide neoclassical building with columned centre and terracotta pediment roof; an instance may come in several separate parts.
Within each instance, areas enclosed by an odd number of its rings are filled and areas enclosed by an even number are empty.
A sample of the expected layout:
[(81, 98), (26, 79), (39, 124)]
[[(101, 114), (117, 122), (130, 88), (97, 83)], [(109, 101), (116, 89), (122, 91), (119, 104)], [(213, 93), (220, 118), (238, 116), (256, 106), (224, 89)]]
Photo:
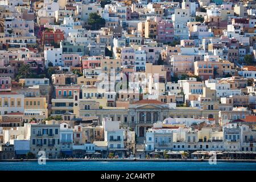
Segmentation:
[[(88, 107), (90, 105), (90, 107)], [(77, 117), (96, 116), (99, 124), (102, 118), (109, 117), (113, 121), (121, 121), (122, 127), (133, 129), (137, 137), (145, 137), (146, 130), (156, 121), (172, 118), (214, 118), (218, 124), (219, 110), (215, 108), (197, 109), (195, 107), (176, 107), (170, 109), (169, 105), (158, 100), (141, 100), (130, 104), (129, 109), (122, 107), (106, 107), (99, 109), (97, 101), (79, 99), (75, 97), (74, 113)]]

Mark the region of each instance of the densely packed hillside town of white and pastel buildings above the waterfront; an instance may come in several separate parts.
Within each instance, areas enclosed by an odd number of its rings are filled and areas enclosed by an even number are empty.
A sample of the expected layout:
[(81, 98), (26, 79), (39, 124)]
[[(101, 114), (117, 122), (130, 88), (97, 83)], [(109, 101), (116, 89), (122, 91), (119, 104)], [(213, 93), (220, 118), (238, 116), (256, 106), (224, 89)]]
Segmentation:
[(256, 1), (0, 0), (0, 160), (256, 159)]

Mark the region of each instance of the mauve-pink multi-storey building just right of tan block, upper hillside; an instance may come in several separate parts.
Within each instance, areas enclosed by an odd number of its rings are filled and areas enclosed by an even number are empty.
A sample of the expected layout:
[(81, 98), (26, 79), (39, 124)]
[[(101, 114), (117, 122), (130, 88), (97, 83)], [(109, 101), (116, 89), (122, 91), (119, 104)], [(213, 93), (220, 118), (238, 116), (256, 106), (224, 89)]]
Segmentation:
[(171, 22), (161, 20), (158, 22), (156, 31), (160, 42), (172, 42), (174, 40), (174, 25)]

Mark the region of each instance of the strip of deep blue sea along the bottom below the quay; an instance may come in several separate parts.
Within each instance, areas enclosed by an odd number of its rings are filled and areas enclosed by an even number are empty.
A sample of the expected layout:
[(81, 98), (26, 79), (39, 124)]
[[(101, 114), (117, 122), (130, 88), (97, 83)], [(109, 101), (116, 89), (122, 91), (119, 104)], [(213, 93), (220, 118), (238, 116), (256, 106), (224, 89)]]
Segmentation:
[(256, 163), (217, 162), (0, 162), (0, 171), (256, 171)]

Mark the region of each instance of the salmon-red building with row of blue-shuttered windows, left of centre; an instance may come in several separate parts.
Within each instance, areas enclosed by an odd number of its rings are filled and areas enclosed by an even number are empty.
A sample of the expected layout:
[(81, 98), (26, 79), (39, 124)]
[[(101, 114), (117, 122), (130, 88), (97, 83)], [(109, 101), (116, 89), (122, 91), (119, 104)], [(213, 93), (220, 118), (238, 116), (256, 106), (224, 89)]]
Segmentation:
[(80, 86), (67, 85), (67, 86), (55, 86), (56, 98), (73, 98), (74, 93), (80, 92)]

